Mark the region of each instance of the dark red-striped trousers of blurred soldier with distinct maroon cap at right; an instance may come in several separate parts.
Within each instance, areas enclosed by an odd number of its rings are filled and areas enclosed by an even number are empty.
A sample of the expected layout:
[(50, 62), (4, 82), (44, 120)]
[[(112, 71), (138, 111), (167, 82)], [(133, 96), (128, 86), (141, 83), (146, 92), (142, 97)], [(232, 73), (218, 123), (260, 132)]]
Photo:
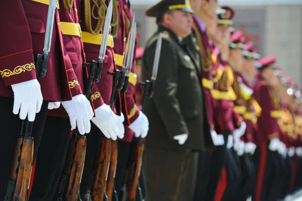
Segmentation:
[(254, 163), (257, 172), (256, 188), (253, 195), (255, 201), (275, 201), (272, 199), (272, 183), (275, 180), (276, 164), (273, 159), (274, 152), (267, 145), (258, 147), (254, 153)]

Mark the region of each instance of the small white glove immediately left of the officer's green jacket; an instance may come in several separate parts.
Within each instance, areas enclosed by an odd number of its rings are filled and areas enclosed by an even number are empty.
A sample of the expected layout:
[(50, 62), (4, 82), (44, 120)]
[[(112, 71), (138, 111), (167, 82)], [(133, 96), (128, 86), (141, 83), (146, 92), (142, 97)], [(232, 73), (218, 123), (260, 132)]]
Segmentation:
[(142, 111), (139, 111), (138, 117), (128, 127), (135, 133), (136, 138), (145, 138), (149, 130), (148, 118)]

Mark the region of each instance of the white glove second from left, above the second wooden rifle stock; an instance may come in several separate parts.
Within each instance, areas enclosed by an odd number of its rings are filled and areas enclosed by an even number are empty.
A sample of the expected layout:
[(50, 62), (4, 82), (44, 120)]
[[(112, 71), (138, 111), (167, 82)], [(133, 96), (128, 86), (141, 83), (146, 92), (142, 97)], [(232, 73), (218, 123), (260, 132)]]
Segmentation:
[(62, 106), (69, 116), (71, 130), (78, 127), (81, 135), (90, 132), (90, 119), (94, 113), (89, 100), (83, 94), (72, 97), (70, 101), (62, 101)]

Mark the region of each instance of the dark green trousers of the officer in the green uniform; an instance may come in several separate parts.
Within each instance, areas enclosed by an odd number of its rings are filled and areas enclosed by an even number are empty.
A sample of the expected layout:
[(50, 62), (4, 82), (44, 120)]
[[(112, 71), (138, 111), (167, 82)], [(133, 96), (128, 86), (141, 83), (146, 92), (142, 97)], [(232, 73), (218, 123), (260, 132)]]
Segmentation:
[(175, 152), (154, 147), (146, 147), (145, 151), (148, 189), (145, 200), (193, 200), (196, 179), (194, 169), (197, 169), (195, 168), (197, 167), (195, 153), (190, 150)]

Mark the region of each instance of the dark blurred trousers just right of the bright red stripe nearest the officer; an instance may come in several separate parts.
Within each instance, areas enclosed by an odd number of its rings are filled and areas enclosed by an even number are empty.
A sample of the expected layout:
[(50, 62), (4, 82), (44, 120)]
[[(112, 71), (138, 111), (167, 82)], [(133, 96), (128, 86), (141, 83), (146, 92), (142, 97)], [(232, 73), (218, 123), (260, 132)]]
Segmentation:
[(221, 200), (234, 200), (242, 182), (240, 158), (234, 149), (227, 149), (224, 159), (226, 169), (226, 187)]

